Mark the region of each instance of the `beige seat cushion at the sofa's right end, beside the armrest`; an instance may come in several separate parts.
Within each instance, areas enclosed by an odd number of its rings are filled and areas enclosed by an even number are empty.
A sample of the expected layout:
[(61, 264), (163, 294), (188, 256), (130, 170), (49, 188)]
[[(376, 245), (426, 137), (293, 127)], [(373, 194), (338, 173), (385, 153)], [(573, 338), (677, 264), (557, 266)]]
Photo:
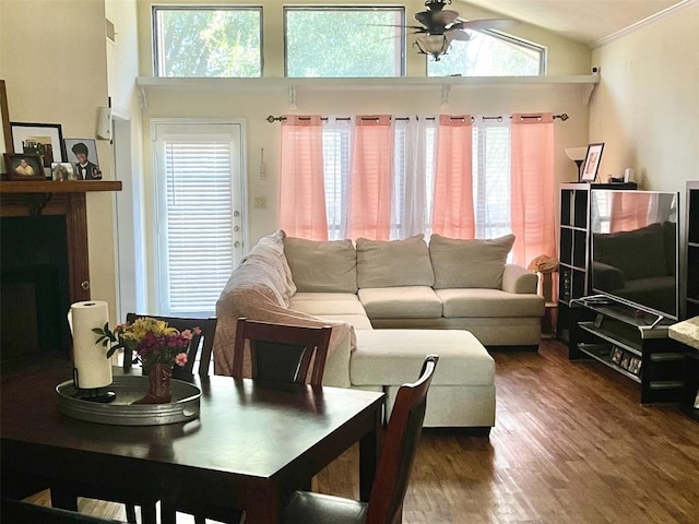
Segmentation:
[(500, 289), (436, 289), (442, 302), (443, 317), (496, 318), (507, 323), (508, 317), (541, 318), (545, 310), (544, 297), (534, 294), (514, 294)]

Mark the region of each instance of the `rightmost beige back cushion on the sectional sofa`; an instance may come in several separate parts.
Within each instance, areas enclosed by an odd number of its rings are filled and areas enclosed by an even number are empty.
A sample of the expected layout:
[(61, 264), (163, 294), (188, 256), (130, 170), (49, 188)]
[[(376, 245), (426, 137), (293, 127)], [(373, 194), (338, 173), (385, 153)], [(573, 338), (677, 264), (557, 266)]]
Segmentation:
[(435, 270), (435, 289), (502, 288), (502, 272), (514, 235), (488, 240), (462, 240), (434, 234), (429, 258)]

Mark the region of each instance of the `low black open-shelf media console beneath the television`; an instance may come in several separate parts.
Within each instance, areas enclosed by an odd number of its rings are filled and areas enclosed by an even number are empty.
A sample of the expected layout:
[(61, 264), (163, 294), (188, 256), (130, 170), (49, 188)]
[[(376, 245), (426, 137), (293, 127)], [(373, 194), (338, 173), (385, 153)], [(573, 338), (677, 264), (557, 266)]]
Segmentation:
[(675, 321), (606, 296), (571, 300), (570, 360), (594, 359), (641, 385), (641, 404), (679, 402), (684, 352)]

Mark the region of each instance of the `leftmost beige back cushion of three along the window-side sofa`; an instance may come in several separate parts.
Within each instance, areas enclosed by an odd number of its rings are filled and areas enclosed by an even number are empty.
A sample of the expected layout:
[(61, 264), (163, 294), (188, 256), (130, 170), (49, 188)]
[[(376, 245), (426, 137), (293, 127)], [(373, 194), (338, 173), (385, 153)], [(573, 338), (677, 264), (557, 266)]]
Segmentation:
[(357, 254), (351, 240), (286, 237), (284, 254), (298, 291), (357, 293)]

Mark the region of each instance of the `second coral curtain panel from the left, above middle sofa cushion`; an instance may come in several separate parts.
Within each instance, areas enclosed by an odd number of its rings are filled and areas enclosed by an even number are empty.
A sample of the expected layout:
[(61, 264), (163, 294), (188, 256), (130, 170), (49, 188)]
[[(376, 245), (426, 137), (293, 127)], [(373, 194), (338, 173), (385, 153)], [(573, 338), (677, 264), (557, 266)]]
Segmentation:
[(393, 126), (388, 115), (362, 116), (355, 122), (352, 151), (348, 236), (389, 240)]

